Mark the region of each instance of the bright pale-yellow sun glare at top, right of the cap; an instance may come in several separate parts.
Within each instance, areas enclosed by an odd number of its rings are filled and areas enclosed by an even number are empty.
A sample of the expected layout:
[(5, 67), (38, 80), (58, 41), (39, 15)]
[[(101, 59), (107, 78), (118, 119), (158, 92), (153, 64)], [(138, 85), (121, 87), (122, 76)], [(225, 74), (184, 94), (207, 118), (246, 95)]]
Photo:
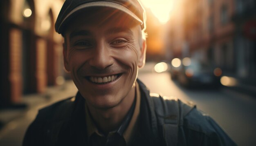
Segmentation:
[(157, 17), (160, 23), (165, 24), (170, 18), (173, 0), (140, 0)]

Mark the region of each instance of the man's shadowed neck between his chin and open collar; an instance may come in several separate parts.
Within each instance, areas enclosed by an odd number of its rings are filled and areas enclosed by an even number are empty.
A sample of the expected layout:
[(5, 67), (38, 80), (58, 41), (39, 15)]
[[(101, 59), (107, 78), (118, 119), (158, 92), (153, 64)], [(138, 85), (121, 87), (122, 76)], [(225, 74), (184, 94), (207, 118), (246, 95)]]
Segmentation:
[(88, 109), (92, 115), (92, 119), (96, 122), (97, 126), (104, 132), (109, 133), (117, 129), (128, 111), (130, 110), (133, 101), (135, 100), (135, 86), (132, 87), (130, 92), (121, 101), (118, 106), (109, 109), (94, 108), (87, 104)]

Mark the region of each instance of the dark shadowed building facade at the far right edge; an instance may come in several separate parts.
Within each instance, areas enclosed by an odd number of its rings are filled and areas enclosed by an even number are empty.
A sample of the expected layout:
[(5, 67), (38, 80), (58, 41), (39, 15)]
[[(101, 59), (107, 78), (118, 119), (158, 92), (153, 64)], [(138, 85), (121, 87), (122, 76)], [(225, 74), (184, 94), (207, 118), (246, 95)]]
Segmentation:
[(234, 51), (236, 75), (245, 88), (256, 84), (256, 2), (235, 0), (236, 11), (232, 17), (235, 24)]

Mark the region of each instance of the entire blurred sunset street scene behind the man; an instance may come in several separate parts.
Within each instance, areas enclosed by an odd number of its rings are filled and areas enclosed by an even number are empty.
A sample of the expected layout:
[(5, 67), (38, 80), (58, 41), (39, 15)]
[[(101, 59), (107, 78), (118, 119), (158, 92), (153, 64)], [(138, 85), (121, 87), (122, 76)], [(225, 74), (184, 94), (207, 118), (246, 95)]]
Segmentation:
[[(54, 22), (65, 0), (0, 0), (0, 145), (20, 146), (38, 109), (76, 94)], [(195, 102), (240, 146), (255, 146), (256, 1), (141, 0), (141, 79)]]

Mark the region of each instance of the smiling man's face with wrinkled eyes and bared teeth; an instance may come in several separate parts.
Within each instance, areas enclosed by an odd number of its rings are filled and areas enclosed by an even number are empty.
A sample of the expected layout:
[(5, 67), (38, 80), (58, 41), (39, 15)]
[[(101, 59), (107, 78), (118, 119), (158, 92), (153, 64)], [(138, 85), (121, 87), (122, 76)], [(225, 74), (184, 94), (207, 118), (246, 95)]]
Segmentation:
[(128, 97), (144, 64), (141, 31), (124, 14), (81, 13), (67, 27), (64, 62), (88, 104), (112, 108)]

